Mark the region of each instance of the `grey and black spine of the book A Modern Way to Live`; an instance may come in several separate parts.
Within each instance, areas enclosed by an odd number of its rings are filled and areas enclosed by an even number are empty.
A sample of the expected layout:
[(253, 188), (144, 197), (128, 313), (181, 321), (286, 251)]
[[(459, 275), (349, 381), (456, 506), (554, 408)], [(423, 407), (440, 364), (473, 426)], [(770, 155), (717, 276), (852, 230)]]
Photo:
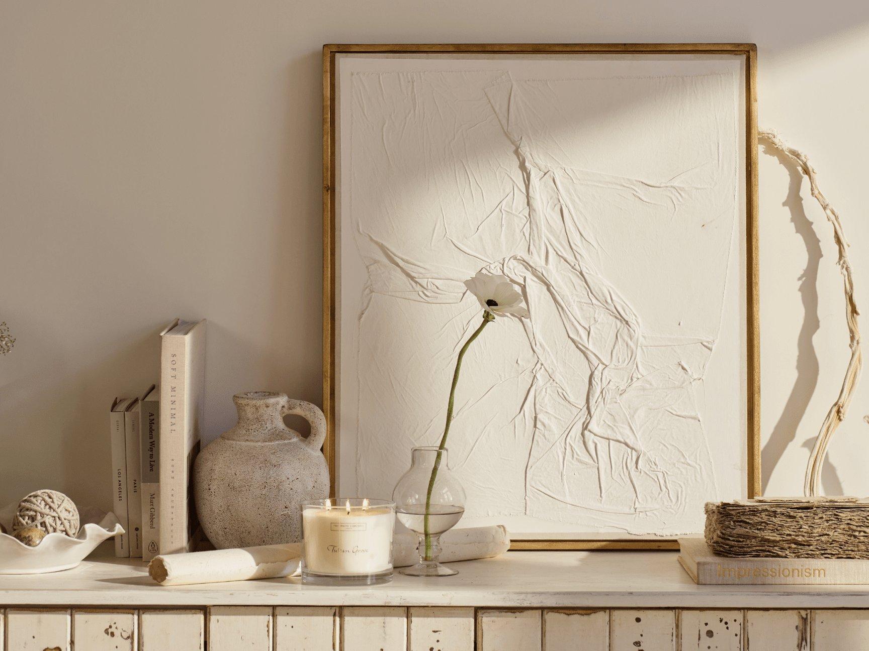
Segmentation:
[(142, 558), (160, 553), (160, 402), (142, 403)]

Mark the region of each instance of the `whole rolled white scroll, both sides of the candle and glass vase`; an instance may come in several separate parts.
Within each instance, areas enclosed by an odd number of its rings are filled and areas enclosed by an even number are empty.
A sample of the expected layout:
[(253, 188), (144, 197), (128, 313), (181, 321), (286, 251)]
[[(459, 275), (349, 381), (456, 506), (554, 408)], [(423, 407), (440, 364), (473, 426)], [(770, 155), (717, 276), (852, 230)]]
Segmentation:
[[(418, 538), (408, 531), (396, 532), (393, 565), (414, 565)], [(510, 549), (510, 536), (500, 524), (472, 529), (450, 529), (441, 536), (441, 562), (471, 561), (499, 556)], [(189, 554), (156, 556), (148, 573), (160, 585), (221, 583), (249, 579), (274, 579), (295, 575), (302, 560), (302, 545), (263, 545), (245, 549), (216, 549)]]

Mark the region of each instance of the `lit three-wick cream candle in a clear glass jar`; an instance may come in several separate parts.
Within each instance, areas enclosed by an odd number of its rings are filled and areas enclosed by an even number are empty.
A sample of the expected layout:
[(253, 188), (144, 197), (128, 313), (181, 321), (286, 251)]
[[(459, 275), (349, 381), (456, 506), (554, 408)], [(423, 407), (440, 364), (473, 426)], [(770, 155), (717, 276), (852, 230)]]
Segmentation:
[(305, 568), (333, 575), (376, 574), (391, 569), (394, 526), (391, 509), (305, 509)]

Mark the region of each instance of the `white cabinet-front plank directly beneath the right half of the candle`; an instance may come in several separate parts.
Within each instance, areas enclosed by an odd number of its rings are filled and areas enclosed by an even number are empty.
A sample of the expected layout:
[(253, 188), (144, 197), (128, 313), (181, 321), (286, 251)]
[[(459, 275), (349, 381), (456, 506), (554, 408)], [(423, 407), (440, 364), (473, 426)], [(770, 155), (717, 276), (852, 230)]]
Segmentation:
[(407, 651), (405, 608), (342, 608), (342, 651)]

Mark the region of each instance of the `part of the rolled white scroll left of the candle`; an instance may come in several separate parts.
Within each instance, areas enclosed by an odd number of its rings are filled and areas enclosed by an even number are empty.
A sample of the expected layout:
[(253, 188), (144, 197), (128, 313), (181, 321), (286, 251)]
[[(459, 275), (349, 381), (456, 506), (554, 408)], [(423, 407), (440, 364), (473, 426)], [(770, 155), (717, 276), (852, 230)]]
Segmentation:
[(148, 573), (160, 585), (219, 583), (289, 576), (299, 569), (302, 545), (263, 545), (156, 556)]

